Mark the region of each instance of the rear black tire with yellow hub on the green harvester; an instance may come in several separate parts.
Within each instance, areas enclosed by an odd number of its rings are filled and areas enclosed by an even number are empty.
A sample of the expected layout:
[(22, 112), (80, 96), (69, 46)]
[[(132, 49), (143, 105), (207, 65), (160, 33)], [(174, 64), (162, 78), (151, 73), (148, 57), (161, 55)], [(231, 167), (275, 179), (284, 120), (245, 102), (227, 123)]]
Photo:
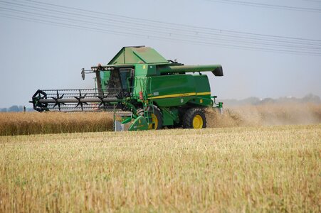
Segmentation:
[(206, 116), (202, 109), (187, 109), (183, 116), (184, 129), (203, 129), (206, 128)]

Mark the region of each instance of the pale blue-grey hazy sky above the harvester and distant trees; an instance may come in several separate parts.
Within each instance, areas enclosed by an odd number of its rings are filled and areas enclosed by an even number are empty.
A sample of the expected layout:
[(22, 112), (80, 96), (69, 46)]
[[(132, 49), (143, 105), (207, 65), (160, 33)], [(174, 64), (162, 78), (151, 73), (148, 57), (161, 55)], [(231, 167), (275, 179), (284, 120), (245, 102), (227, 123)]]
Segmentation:
[(321, 97), (321, 1), (0, 0), (0, 108), (93, 88), (81, 68), (146, 45), (208, 74), (219, 99)]

